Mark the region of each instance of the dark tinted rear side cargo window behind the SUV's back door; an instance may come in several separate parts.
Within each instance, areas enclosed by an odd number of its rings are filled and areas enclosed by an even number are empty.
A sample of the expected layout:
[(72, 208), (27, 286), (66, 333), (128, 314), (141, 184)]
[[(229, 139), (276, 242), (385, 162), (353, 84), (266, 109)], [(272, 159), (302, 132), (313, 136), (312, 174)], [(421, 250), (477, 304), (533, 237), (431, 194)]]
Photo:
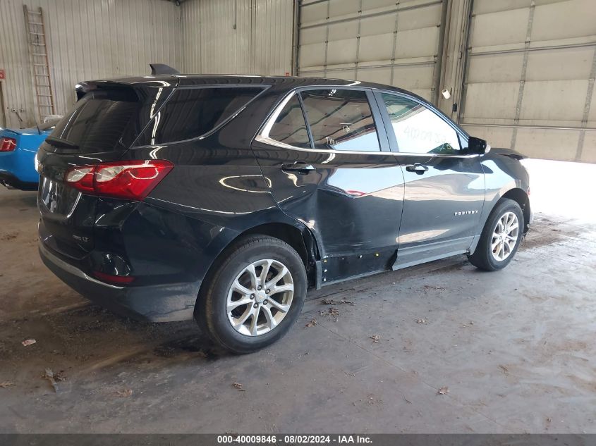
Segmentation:
[(135, 145), (163, 144), (205, 135), (262, 91), (262, 87), (176, 89)]

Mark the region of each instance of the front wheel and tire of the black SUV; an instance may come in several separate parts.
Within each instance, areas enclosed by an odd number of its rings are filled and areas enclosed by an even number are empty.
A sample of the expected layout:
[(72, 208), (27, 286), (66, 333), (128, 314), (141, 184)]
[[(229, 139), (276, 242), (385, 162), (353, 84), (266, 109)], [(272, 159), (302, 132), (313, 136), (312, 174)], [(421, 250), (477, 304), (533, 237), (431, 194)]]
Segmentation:
[[(516, 230), (514, 228), (515, 220), (517, 223)], [(503, 233), (502, 228), (507, 228), (508, 223), (509, 233), (507, 230)], [(474, 254), (468, 254), (468, 260), (477, 268), (485, 271), (497, 271), (505, 268), (516, 255), (523, 237), (523, 228), (523, 212), (519, 204), (512, 199), (504, 198), (499, 200), (488, 216)], [(503, 235), (502, 238), (497, 237), (499, 232)], [(511, 237), (515, 237), (515, 241)], [(495, 252), (493, 252), (495, 242), (498, 245), (494, 249)]]

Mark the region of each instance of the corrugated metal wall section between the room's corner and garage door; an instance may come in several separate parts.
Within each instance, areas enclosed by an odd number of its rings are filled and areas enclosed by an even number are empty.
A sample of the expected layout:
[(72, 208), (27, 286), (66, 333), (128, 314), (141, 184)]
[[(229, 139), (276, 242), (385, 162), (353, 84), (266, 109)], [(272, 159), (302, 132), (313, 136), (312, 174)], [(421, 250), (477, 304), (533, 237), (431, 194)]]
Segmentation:
[(186, 73), (291, 73), (293, 0), (182, 4)]

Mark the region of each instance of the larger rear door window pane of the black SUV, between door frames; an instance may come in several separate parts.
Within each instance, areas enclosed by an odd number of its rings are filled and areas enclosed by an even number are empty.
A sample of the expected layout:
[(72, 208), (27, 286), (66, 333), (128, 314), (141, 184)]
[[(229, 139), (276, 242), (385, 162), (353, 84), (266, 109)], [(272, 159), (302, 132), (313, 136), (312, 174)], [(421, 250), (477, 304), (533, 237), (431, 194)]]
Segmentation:
[(300, 94), (315, 149), (381, 150), (364, 90), (314, 89)]

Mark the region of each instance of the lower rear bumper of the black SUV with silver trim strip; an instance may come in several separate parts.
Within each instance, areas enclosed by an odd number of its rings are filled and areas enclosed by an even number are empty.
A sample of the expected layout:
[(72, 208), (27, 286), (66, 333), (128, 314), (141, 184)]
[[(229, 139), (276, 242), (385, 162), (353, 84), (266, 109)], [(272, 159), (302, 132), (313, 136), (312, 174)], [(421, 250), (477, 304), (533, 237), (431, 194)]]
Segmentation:
[(193, 318), (197, 298), (195, 283), (111, 285), (92, 278), (56, 256), (43, 242), (39, 242), (39, 256), (66, 285), (116, 314), (152, 322), (186, 321)]

